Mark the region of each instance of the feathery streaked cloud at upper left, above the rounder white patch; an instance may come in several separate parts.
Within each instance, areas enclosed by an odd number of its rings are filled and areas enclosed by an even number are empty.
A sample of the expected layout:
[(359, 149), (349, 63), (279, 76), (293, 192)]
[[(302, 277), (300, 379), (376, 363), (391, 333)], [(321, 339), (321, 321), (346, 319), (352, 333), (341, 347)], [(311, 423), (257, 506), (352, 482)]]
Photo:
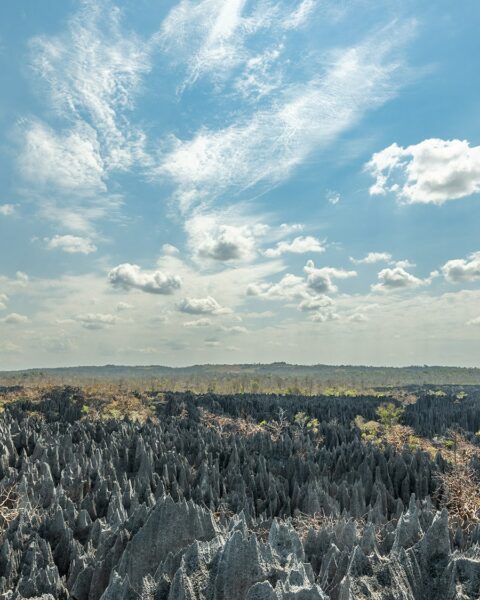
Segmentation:
[(122, 29), (120, 21), (116, 7), (87, 0), (64, 34), (31, 42), (33, 68), (55, 110), (95, 128), (107, 170), (145, 158), (144, 135), (125, 113), (151, 68), (152, 45)]

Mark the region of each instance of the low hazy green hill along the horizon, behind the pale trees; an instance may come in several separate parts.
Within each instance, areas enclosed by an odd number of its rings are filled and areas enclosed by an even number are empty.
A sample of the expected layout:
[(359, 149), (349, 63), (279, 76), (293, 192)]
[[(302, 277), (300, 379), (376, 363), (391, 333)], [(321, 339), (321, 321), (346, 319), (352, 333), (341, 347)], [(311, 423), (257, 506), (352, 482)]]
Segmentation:
[[(27, 369), (22, 371), (0, 371), (0, 380), (52, 379), (59, 382), (75, 381), (155, 381), (195, 382), (215, 381), (290, 381), (315, 382), (322, 386), (353, 386), (359, 388), (409, 385), (480, 385), (480, 368), (410, 366), (410, 367), (364, 367), (333, 365), (293, 365), (284, 362), (270, 364), (238, 365), (192, 365), (188, 367), (166, 367), (161, 365), (99, 367), (63, 367), (53, 369)], [(247, 386), (249, 389), (250, 385)], [(264, 387), (263, 385), (261, 387)]]

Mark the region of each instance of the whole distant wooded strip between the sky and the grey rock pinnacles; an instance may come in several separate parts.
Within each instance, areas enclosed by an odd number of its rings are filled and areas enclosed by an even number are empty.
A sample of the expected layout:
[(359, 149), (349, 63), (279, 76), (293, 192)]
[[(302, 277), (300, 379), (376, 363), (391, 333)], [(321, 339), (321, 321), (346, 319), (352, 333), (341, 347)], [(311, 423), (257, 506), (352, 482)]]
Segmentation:
[(197, 365), (69, 367), (0, 373), (0, 385), (51, 382), (100, 384), (117, 382), (142, 389), (197, 393), (279, 393), (356, 396), (406, 386), (433, 388), (480, 385), (480, 369), (459, 367), (357, 367), (329, 365)]

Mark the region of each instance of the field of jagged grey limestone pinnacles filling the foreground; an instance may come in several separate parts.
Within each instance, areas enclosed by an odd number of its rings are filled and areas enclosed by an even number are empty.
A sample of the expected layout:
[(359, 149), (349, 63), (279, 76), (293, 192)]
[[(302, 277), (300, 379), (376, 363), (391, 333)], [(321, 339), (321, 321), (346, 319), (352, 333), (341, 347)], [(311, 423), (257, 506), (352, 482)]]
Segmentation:
[[(74, 388), (35, 405), (41, 417), (12, 405), (0, 415), (0, 479), (19, 505), (2, 524), (1, 597), (480, 597), (480, 528), (449, 527), (433, 494), (442, 460), (365, 444), (352, 427), (376, 402), (177, 394), (145, 424), (82, 419)], [(259, 423), (279, 406), (288, 423), (318, 418), (318, 431), (205, 418)], [(433, 437), (457, 410), (420, 400), (405, 419)]]

